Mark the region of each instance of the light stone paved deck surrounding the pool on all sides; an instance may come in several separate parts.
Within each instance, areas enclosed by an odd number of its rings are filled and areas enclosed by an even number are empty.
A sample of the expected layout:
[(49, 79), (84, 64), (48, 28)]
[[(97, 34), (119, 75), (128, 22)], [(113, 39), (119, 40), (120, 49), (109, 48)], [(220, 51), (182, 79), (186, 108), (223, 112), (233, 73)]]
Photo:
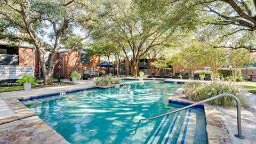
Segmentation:
[[(165, 79), (165, 81), (190, 82), (191, 80)], [(92, 80), (77, 81), (77, 83), (76, 85), (44, 87), (31, 91), (0, 93), (0, 143), (68, 143), (17, 98), (85, 89), (93, 86)], [(177, 95), (173, 99), (184, 100), (181, 99), (182, 89), (177, 92), (179, 94), (176, 93)], [(256, 96), (246, 91), (242, 91), (242, 94), (249, 101), (249, 107), (242, 108), (242, 133), (245, 135), (245, 139), (240, 140), (234, 137), (234, 134), (237, 133), (236, 108), (213, 107), (205, 104), (209, 143), (256, 143)]]

